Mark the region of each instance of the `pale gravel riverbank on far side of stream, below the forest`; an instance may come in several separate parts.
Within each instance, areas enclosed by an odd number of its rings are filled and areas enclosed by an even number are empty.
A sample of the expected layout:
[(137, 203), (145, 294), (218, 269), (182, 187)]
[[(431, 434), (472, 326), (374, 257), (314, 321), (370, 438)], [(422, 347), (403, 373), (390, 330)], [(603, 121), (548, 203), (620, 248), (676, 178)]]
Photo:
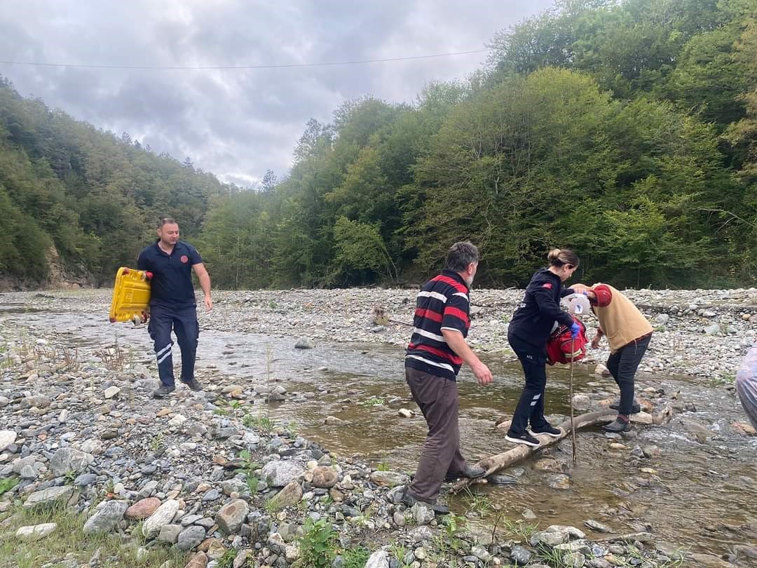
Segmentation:
[[(655, 329), (643, 371), (732, 380), (740, 357), (757, 338), (757, 289), (631, 290), (628, 297)], [(413, 321), (415, 290), (256, 290), (214, 292), (215, 308), (201, 314), (207, 330), (257, 332), (311, 341), (405, 345)], [(509, 351), (507, 323), (522, 290), (474, 290), (469, 343), (480, 351)], [(110, 291), (15, 292), (0, 307), (106, 314)], [(376, 315), (378, 312), (378, 315)], [(596, 318), (584, 317), (593, 335)], [(587, 364), (606, 359), (603, 348)]]

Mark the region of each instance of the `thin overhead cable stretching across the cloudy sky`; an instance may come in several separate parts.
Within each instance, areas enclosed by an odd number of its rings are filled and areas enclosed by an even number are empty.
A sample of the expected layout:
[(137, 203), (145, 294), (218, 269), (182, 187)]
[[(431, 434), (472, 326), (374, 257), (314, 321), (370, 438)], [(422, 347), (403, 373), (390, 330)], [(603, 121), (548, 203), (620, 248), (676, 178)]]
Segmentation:
[(453, 51), (451, 53), (435, 53), (432, 55), (411, 55), (403, 58), (359, 59), (354, 61), (329, 61), (326, 63), (271, 63), (260, 65), (203, 65), (198, 67), (180, 67), (171, 65), (92, 65), (77, 63), (45, 63), (42, 61), (0, 61), (5, 65), (30, 65), (36, 67), (76, 67), (82, 69), (124, 69), (124, 70), (245, 70), (245, 69), (283, 69), (287, 67), (333, 67), (336, 65), (360, 65), (366, 63), (386, 63), (389, 61), (411, 61), (414, 59), (447, 58), (455, 55), (471, 55), (484, 53), (488, 49), (473, 49), (472, 51)]

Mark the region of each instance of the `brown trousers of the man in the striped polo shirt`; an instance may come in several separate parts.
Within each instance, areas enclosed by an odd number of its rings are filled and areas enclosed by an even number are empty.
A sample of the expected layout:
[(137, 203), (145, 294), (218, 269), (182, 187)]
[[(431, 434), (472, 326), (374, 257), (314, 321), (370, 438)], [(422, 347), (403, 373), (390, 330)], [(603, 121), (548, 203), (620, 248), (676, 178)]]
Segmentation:
[(405, 367), (405, 379), (428, 424), (410, 494), (432, 503), (439, 496), (444, 476), (462, 473), (466, 467), (459, 447), (457, 383), (410, 367)]

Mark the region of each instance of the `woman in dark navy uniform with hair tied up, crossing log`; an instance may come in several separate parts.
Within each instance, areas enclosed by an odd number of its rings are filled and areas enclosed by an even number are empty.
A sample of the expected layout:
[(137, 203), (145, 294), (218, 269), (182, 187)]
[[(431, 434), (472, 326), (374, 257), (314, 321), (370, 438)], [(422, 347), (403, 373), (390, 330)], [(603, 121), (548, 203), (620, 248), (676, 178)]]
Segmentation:
[[(563, 288), (578, 268), (578, 256), (567, 248), (555, 248), (547, 255), (550, 266), (534, 273), (520, 307), (507, 329), (507, 341), (516, 352), (525, 373), (525, 387), (505, 439), (516, 444), (539, 445), (531, 434), (556, 437), (560, 430), (544, 418), (544, 389), (547, 386), (547, 341), (555, 322), (571, 328), (573, 337), (580, 327), (560, 308), (560, 298), (573, 294)], [(526, 429), (531, 423), (531, 433)]]

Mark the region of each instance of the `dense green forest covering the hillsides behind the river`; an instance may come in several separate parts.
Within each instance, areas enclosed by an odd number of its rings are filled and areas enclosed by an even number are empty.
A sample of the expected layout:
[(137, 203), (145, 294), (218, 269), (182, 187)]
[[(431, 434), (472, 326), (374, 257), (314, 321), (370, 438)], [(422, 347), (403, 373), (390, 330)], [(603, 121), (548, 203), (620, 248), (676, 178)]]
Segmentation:
[(4, 79), (0, 280), (108, 286), (170, 215), (222, 289), (416, 284), (460, 239), (477, 286), (523, 286), (556, 246), (585, 281), (754, 286), (753, 0), (559, 0), (487, 47), (413, 104), (310, 120), (245, 189)]

